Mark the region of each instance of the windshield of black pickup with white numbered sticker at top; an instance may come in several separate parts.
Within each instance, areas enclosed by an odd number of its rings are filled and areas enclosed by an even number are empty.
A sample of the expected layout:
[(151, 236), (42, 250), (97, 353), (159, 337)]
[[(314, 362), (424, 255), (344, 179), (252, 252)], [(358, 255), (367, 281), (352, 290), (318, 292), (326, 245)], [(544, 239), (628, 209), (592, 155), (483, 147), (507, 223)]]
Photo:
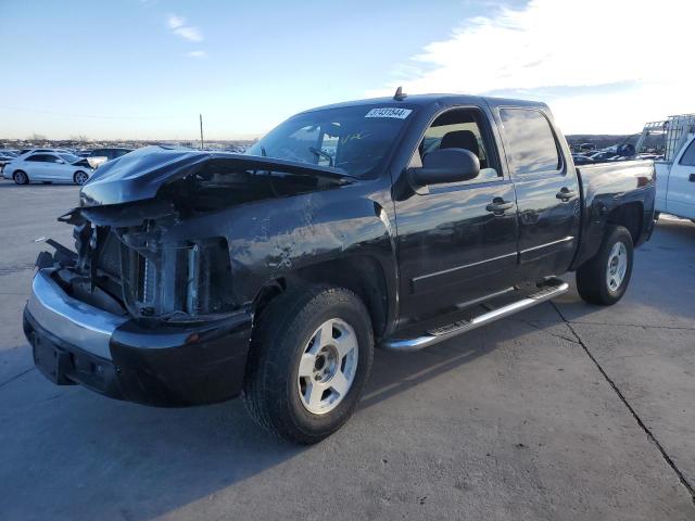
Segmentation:
[(299, 114), (247, 153), (368, 177), (387, 156), (412, 112), (402, 105), (359, 105)]

